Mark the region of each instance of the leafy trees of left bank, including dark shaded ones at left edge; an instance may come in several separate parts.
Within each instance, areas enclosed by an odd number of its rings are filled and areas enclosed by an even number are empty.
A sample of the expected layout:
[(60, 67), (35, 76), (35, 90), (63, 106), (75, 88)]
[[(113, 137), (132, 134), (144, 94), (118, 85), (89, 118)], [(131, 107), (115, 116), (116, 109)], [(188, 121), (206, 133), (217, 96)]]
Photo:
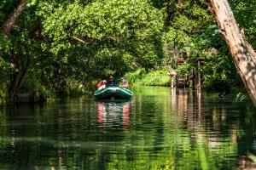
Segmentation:
[(0, 11), (1, 91), (11, 98), (68, 94), (71, 84), (150, 69), (164, 56), (162, 13), (146, 0), (4, 0)]

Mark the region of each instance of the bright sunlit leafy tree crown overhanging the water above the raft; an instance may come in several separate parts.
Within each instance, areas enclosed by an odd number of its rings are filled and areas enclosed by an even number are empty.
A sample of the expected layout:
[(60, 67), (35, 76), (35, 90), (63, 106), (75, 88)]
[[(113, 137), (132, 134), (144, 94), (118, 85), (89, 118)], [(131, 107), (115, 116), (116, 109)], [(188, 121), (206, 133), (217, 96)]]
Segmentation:
[(40, 14), (49, 38), (45, 49), (83, 58), (84, 69), (131, 71), (133, 65), (152, 67), (161, 57), (154, 45), (160, 43), (161, 13), (147, 1), (75, 2)]

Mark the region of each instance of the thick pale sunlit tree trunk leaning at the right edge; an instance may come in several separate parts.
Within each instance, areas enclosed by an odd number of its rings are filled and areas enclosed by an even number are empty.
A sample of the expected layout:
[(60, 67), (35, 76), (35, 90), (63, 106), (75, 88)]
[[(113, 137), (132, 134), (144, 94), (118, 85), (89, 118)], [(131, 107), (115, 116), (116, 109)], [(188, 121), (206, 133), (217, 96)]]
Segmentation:
[(219, 32), (230, 48), (236, 69), (256, 107), (256, 54), (245, 40), (227, 0), (211, 0)]

